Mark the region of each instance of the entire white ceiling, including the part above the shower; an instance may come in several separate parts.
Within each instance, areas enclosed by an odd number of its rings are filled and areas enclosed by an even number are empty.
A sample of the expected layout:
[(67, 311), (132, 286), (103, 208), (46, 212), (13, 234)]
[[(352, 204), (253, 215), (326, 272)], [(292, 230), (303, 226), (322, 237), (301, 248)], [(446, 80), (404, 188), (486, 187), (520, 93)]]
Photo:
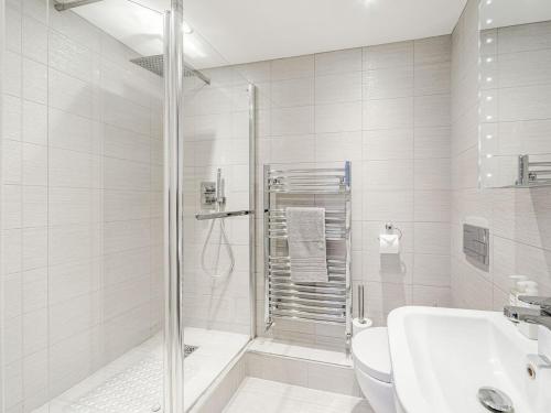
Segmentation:
[[(143, 55), (162, 53), (170, 0), (104, 0), (74, 9)], [(466, 0), (184, 0), (196, 67), (239, 64), (449, 34)]]

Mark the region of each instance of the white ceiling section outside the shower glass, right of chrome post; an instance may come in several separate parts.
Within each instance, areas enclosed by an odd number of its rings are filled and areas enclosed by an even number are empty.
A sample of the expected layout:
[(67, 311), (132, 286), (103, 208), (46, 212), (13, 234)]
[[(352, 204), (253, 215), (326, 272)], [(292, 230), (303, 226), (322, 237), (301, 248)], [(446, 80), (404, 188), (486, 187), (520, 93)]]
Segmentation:
[(449, 34), (466, 0), (184, 0), (230, 63)]

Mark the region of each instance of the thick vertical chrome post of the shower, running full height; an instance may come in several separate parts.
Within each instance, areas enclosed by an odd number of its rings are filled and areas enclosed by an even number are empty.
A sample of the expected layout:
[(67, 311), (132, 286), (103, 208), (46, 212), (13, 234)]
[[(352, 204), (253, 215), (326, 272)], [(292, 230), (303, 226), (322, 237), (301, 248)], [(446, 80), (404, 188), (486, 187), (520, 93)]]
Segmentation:
[(184, 406), (183, 325), (183, 0), (164, 20), (164, 412)]

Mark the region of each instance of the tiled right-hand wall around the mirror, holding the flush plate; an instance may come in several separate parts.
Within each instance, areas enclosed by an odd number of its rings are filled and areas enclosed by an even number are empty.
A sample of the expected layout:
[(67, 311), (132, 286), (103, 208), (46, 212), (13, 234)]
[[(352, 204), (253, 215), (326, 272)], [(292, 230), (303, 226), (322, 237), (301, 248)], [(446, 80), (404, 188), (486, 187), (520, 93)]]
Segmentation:
[[(530, 36), (516, 34), (534, 29), (526, 25), (504, 30), (501, 46), (526, 42)], [(472, 0), (453, 33), (452, 297), (457, 307), (499, 311), (508, 300), (511, 274), (528, 275), (539, 282), (543, 295), (551, 293), (551, 189), (478, 189), (477, 78), (478, 2)], [(538, 110), (530, 101), (516, 99), (510, 104)], [(490, 229), (488, 272), (478, 270), (462, 252), (465, 221)]]

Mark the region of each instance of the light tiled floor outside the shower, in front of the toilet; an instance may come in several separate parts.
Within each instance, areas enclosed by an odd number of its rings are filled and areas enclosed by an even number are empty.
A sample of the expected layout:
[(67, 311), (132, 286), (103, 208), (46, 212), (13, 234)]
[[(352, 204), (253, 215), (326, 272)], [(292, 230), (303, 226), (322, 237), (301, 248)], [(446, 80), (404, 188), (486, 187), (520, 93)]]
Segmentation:
[(246, 378), (225, 413), (374, 413), (359, 398)]

